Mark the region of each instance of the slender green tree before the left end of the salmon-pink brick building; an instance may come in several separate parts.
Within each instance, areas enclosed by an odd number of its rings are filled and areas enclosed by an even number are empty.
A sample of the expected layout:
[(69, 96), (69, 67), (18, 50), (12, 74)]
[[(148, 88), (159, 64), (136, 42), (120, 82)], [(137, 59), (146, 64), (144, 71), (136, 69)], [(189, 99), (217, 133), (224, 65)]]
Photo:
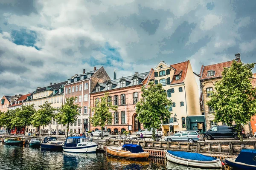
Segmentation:
[[(100, 101), (97, 100), (95, 102), (95, 107), (90, 108), (93, 111), (93, 116), (90, 117), (90, 121), (93, 126), (100, 126), (101, 130), (103, 130), (108, 122), (112, 122), (113, 116), (111, 111), (117, 111), (117, 106), (112, 105), (112, 101), (109, 99), (108, 93), (105, 93)], [(101, 138), (102, 136), (103, 131), (101, 133)]]

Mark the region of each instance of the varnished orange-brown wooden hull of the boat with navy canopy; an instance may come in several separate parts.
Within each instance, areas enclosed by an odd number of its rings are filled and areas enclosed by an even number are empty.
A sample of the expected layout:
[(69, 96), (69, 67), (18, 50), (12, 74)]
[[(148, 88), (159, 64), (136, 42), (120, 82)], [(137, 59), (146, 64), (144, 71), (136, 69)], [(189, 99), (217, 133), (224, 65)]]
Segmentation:
[(123, 150), (118, 150), (117, 147), (107, 147), (108, 154), (112, 156), (122, 157), (122, 158), (132, 158), (132, 159), (145, 159), (148, 158), (149, 153), (148, 152), (142, 152), (142, 153), (131, 153), (131, 152), (125, 152)]

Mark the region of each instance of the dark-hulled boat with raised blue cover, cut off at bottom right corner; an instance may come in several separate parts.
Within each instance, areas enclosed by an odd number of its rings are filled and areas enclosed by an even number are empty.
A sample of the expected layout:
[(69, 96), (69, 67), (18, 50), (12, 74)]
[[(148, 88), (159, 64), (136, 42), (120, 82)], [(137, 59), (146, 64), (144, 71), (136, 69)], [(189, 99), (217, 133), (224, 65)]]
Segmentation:
[(225, 162), (228, 166), (239, 170), (256, 170), (256, 150), (243, 149), (236, 159), (226, 158)]

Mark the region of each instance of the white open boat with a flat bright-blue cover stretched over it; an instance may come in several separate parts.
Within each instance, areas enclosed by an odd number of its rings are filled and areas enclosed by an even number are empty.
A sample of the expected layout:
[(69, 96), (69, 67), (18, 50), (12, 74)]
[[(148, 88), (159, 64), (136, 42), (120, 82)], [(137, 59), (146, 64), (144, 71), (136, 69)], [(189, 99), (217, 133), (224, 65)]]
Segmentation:
[(200, 153), (164, 150), (168, 161), (192, 167), (218, 168), (221, 160)]

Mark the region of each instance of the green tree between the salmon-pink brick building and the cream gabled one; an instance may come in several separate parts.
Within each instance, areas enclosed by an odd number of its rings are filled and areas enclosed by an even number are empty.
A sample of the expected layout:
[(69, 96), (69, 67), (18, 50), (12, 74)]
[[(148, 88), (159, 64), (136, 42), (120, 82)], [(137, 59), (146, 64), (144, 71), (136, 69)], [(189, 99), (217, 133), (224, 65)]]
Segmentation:
[(171, 107), (172, 101), (167, 99), (166, 91), (162, 84), (154, 85), (149, 82), (149, 88), (141, 88), (142, 99), (136, 104), (138, 120), (146, 129), (152, 129), (152, 138), (155, 140), (155, 130), (160, 127), (163, 119), (170, 118), (171, 114), (166, 106)]

